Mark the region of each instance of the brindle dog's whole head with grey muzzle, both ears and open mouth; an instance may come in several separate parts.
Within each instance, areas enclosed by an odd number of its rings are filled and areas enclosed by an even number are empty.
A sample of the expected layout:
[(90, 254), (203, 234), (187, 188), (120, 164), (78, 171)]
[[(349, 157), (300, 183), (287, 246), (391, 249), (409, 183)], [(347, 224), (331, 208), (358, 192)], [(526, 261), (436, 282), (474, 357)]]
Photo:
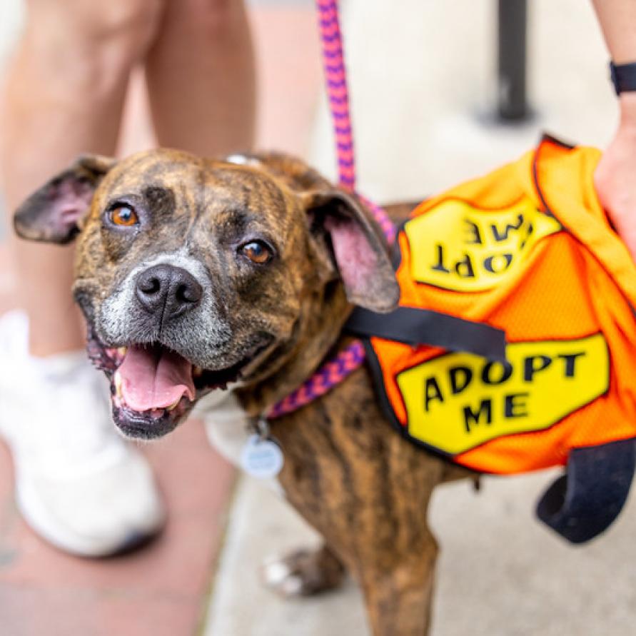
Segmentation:
[(84, 157), (16, 212), (24, 238), (77, 235), (89, 355), (129, 437), (164, 435), (204, 393), (265, 378), (335, 289), (376, 311), (397, 301), (358, 201), (299, 161), (239, 160)]

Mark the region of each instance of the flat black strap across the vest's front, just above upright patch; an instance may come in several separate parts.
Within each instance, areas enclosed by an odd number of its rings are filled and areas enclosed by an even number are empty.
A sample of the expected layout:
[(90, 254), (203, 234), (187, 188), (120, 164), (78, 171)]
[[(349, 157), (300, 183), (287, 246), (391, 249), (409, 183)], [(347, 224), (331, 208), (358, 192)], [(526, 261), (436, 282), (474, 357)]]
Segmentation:
[(398, 307), (390, 313), (375, 313), (356, 307), (345, 330), (367, 338), (375, 335), (413, 346), (433, 345), (505, 362), (503, 330), (429, 309)]

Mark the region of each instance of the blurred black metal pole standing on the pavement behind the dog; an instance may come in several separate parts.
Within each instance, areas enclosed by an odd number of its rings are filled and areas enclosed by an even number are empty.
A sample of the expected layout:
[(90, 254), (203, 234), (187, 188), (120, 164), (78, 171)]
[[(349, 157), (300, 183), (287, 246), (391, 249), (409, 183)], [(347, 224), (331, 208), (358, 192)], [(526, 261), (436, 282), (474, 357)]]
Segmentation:
[(526, 103), (527, 0), (498, 0), (498, 114), (507, 121), (528, 116)]

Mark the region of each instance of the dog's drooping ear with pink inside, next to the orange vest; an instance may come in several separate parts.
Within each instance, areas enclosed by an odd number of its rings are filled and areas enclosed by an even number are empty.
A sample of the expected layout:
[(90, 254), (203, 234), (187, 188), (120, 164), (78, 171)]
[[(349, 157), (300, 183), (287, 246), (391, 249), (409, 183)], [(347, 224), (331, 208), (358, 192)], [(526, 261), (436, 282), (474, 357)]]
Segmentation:
[(313, 231), (325, 231), (351, 303), (392, 311), (400, 288), (380, 228), (355, 196), (337, 188), (302, 195)]

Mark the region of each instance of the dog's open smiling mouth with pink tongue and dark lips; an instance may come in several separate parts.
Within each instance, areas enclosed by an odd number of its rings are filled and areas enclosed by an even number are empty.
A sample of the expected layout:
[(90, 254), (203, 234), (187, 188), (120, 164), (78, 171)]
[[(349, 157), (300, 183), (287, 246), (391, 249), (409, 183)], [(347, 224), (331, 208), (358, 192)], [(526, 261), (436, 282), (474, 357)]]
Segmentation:
[(158, 438), (176, 428), (210, 390), (226, 390), (266, 348), (227, 368), (206, 370), (159, 343), (108, 348), (89, 335), (89, 357), (111, 380), (113, 420), (129, 438)]

